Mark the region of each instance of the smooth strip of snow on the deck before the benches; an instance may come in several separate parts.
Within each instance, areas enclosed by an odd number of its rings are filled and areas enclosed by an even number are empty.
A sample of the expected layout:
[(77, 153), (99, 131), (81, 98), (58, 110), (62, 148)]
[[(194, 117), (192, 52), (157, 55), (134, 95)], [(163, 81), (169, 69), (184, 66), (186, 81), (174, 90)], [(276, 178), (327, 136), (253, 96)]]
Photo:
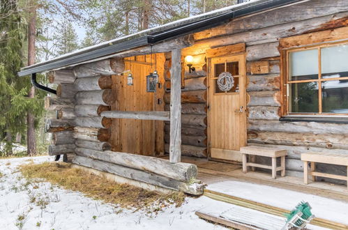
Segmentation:
[(214, 183), (206, 189), (287, 210), (292, 210), (300, 201), (308, 201), (316, 217), (348, 224), (348, 203), (344, 201), (239, 181)]

